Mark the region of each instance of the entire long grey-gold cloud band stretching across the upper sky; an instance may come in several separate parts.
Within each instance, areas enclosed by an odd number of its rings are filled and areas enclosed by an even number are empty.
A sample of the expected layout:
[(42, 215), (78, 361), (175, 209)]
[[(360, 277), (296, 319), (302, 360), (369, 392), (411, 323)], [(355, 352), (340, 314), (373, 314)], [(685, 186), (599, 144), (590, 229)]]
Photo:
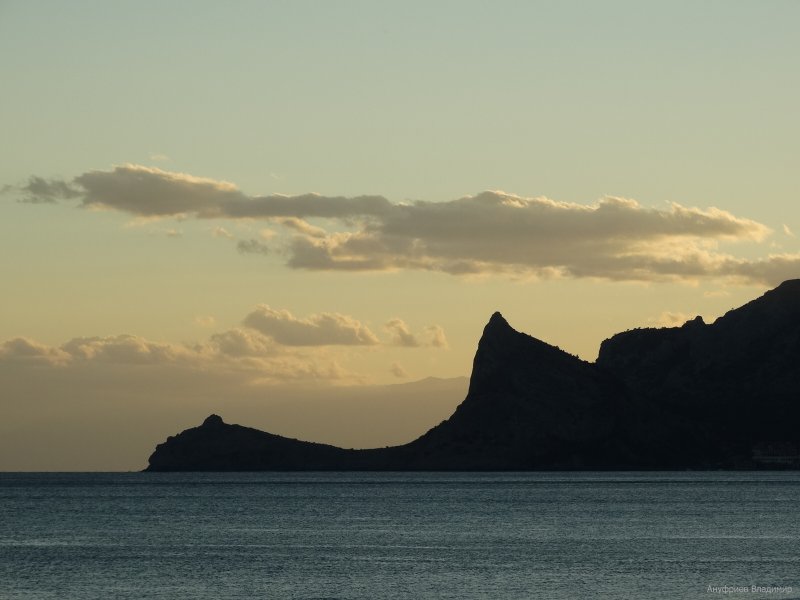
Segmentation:
[[(800, 275), (800, 254), (738, 258), (720, 243), (762, 243), (769, 228), (718, 208), (647, 208), (605, 197), (591, 205), (498, 191), (445, 202), (382, 196), (248, 196), (234, 184), (139, 165), (71, 181), (32, 177), (28, 202), (80, 199), (137, 218), (261, 219), (282, 228), (241, 253), (286, 257), (293, 269), (664, 281), (725, 278), (774, 285)], [(311, 223), (309, 220), (320, 221)], [(223, 231), (218, 230), (220, 235)], [(227, 232), (225, 232), (227, 233)]]

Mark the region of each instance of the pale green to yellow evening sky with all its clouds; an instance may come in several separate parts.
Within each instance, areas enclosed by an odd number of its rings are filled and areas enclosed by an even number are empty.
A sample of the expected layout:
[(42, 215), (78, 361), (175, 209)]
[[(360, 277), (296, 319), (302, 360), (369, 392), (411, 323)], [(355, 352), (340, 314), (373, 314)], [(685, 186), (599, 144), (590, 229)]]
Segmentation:
[(592, 361), (800, 277), (798, 18), (0, 1), (0, 470), (403, 443), (494, 311)]

